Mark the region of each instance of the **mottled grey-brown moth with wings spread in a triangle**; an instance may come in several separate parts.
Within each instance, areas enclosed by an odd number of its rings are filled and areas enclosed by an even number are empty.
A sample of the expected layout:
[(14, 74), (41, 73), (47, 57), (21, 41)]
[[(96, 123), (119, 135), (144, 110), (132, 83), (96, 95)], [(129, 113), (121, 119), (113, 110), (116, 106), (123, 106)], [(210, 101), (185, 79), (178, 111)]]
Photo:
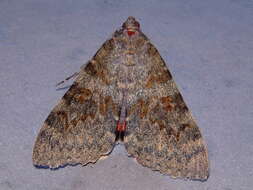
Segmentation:
[(173, 178), (206, 180), (207, 148), (158, 50), (128, 17), (81, 67), (45, 120), (35, 166), (95, 163), (122, 141), (128, 154)]

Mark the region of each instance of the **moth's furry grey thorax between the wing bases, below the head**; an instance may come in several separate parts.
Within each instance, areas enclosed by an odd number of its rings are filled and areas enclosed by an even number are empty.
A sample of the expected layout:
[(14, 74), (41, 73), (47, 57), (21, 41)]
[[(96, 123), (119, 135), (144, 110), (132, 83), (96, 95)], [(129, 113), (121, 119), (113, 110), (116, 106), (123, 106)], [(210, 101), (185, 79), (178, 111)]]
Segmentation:
[(114, 55), (115, 82), (120, 91), (128, 92), (128, 97), (140, 90), (137, 87), (145, 83), (150, 69), (146, 64), (146, 44), (141, 43), (145, 39), (140, 34), (131, 38), (122, 34), (115, 39), (116, 52), (119, 52)]

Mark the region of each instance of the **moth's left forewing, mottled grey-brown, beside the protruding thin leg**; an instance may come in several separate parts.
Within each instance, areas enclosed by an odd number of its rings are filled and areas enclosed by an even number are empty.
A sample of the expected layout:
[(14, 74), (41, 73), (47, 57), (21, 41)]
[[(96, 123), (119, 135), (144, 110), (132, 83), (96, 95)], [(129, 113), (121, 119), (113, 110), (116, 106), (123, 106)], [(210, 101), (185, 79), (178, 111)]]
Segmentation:
[(53, 108), (36, 139), (34, 165), (85, 165), (112, 150), (116, 126), (113, 115), (117, 114), (117, 105), (108, 95), (107, 60), (112, 51), (113, 43), (108, 40)]

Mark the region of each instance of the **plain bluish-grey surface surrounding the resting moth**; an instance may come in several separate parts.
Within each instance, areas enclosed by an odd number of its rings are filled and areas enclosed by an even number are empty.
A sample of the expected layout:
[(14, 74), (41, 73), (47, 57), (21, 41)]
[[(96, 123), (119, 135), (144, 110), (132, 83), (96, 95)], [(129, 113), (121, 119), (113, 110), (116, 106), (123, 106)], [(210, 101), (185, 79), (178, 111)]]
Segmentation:
[[(78, 71), (128, 16), (168, 64), (208, 146), (208, 181), (174, 180), (127, 157), (56, 171), (32, 165), (41, 124)], [(253, 189), (252, 0), (1, 0), (1, 190)]]

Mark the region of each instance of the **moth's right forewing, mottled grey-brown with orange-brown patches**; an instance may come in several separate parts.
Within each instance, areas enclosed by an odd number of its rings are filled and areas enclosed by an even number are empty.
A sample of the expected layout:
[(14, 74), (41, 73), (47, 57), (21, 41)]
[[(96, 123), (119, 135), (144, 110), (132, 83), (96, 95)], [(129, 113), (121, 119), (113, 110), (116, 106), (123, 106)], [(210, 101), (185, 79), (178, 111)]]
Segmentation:
[(200, 130), (158, 51), (150, 42), (146, 46), (145, 63), (151, 69), (128, 110), (126, 149), (140, 164), (163, 174), (206, 180), (208, 154)]

